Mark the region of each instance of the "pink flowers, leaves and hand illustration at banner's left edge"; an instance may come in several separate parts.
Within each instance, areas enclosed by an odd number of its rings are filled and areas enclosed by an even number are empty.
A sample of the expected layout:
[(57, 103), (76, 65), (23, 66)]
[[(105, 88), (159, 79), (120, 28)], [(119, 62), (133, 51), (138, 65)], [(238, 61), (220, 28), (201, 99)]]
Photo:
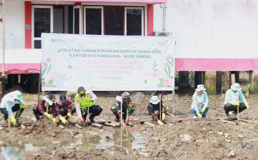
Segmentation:
[[(42, 66), (42, 73), (41, 73), (41, 77), (46, 73), (48, 74), (51, 68), (51, 59), (50, 58), (46, 58), (46, 62), (43, 62), (43, 66)], [(54, 79), (52, 78), (53, 76), (49, 76), (49, 78), (41, 78), (42, 81), (42, 86), (43, 87), (57, 87), (56, 85), (54, 85)], [(55, 76), (54, 76), (55, 77)]]

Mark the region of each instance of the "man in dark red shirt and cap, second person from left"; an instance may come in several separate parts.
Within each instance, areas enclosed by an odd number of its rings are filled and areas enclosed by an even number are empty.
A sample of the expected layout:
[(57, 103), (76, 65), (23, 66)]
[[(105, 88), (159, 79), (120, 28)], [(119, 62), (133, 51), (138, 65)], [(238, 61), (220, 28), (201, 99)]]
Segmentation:
[[(37, 118), (37, 121), (39, 120), (39, 116), (41, 115), (46, 115), (48, 118), (53, 118), (52, 112), (56, 108), (55, 98), (55, 95), (49, 94), (48, 97), (44, 97), (43, 99), (39, 100), (37, 106), (33, 108), (33, 112), (35, 117)], [(47, 103), (49, 103), (48, 113), (46, 112)]]

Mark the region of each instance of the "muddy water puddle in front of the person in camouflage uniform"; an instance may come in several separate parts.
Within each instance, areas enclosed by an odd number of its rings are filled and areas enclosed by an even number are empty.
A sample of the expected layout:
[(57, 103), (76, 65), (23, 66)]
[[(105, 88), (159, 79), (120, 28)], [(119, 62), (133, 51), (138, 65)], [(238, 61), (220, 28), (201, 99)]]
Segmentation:
[(93, 137), (85, 137), (81, 141), (83, 149), (89, 148), (91, 144), (96, 144), (96, 148), (110, 147), (119, 145), (127, 149), (145, 148), (143, 143), (146, 143), (146, 137), (140, 135), (140, 129), (134, 128), (105, 128), (100, 135)]

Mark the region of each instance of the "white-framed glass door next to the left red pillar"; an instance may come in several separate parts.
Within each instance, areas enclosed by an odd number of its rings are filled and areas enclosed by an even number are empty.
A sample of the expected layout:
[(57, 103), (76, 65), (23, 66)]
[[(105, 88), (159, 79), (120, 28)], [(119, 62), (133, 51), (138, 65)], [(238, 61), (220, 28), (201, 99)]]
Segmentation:
[(32, 5), (32, 48), (41, 48), (41, 33), (53, 33), (53, 6)]

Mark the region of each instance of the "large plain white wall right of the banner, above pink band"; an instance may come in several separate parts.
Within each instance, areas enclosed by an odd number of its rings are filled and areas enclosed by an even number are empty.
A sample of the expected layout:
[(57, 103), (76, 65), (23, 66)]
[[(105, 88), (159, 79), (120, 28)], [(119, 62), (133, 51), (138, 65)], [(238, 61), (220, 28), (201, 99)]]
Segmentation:
[[(257, 0), (168, 0), (166, 5), (176, 58), (258, 58)], [(162, 15), (154, 5), (154, 31), (162, 31)]]

